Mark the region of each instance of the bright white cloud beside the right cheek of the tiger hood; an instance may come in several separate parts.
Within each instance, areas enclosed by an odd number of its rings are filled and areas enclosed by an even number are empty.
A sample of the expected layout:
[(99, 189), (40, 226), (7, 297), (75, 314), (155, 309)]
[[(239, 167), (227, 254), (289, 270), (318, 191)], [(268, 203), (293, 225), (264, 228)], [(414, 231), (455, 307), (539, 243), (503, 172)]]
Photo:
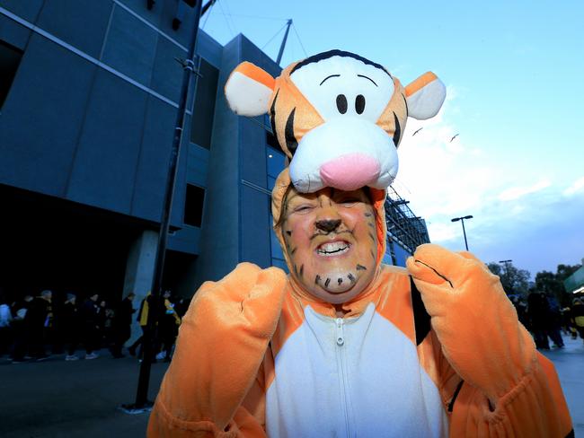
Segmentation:
[(449, 119), (455, 109), (451, 98), (436, 118), (409, 120), (398, 150), (394, 188), (426, 219), (430, 240), (464, 250), (461, 223), (450, 220), (473, 215), (465, 221), (469, 249), (485, 262), (511, 258), (533, 275), (579, 263), (584, 177), (568, 182), (562, 172), (537, 174), (520, 155), (501, 159), (489, 137), (466, 134)]

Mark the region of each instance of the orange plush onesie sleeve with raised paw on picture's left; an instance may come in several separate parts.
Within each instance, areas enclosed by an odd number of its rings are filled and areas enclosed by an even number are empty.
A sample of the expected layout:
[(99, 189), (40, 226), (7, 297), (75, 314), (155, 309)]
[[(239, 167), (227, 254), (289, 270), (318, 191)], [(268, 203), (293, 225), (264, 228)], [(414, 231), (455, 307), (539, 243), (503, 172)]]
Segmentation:
[(243, 263), (201, 286), (185, 314), (149, 437), (265, 436), (260, 369), (286, 275)]

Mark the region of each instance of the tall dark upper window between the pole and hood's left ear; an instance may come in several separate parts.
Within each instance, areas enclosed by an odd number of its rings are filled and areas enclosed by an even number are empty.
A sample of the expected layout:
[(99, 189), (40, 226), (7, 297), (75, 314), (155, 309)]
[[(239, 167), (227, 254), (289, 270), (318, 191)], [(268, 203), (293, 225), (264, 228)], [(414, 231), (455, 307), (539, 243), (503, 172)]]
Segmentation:
[(195, 96), (195, 105), (192, 110), (190, 142), (205, 149), (210, 149), (219, 71), (201, 57), (199, 73), (197, 95)]

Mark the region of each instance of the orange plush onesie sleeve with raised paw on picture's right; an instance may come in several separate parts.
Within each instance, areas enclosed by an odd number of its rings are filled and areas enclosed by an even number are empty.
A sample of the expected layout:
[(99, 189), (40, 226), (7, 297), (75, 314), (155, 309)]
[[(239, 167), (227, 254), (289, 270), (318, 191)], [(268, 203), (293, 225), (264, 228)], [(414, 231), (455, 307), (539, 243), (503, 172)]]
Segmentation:
[(431, 244), (407, 266), (436, 334), (450, 436), (573, 434), (553, 364), (535, 350), (499, 277), (470, 253)]

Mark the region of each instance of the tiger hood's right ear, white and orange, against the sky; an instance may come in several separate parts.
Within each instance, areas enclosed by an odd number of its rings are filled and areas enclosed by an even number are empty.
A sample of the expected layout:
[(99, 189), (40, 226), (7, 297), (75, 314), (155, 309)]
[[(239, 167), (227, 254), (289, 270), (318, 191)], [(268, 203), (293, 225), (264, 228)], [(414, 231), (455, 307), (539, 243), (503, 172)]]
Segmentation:
[(436, 74), (427, 72), (405, 87), (405, 97), (408, 116), (425, 120), (438, 114), (447, 97), (447, 87)]

